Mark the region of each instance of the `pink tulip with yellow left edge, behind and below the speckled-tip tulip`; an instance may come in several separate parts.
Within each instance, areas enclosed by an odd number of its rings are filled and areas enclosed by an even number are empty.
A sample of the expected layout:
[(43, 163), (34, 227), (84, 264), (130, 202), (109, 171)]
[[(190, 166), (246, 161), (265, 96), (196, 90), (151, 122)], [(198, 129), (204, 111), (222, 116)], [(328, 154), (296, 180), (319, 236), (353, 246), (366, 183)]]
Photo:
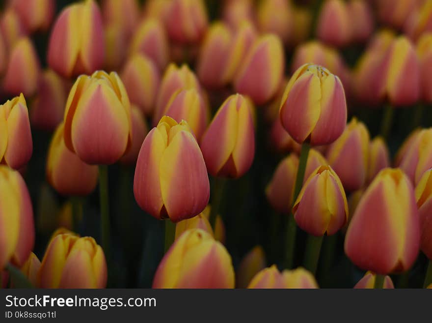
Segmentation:
[(348, 191), (355, 191), (366, 183), (369, 143), (368, 129), (354, 117), (343, 134), (327, 150), (328, 163)]

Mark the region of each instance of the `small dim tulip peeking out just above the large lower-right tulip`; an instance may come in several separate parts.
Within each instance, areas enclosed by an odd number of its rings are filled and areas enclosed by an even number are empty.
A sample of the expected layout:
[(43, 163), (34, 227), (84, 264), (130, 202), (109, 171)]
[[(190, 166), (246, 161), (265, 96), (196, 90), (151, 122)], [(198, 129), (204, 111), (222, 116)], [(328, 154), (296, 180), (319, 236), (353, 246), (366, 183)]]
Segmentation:
[(375, 137), (369, 144), (367, 182), (370, 183), (380, 170), (390, 167), (390, 153), (382, 137)]

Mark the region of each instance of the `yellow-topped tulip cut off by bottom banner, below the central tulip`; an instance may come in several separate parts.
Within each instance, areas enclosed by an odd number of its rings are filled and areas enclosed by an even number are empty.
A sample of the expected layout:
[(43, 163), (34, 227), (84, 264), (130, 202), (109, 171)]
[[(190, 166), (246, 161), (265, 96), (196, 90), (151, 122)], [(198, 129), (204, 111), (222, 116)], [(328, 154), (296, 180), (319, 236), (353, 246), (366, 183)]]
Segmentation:
[(187, 230), (163, 257), (153, 288), (234, 288), (231, 257), (204, 230)]

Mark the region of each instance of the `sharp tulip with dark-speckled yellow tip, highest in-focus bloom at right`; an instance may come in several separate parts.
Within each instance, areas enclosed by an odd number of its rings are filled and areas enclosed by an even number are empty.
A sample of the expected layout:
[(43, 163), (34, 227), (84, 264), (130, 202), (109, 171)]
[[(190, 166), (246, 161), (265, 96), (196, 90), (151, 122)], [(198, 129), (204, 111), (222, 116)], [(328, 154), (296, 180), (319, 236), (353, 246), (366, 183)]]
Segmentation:
[(322, 66), (302, 65), (285, 89), (280, 118), (297, 143), (331, 144), (342, 134), (347, 122), (347, 103), (340, 79)]

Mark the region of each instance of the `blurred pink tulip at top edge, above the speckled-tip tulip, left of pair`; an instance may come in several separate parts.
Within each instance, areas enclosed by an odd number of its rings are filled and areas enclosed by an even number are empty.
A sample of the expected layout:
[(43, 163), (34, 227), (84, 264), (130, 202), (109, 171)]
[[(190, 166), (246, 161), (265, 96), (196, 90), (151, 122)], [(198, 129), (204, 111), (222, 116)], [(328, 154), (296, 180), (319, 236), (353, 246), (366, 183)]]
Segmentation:
[(317, 23), (317, 36), (324, 43), (343, 47), (352, 38), (353, 22), (343, 0), (324, 1)]

